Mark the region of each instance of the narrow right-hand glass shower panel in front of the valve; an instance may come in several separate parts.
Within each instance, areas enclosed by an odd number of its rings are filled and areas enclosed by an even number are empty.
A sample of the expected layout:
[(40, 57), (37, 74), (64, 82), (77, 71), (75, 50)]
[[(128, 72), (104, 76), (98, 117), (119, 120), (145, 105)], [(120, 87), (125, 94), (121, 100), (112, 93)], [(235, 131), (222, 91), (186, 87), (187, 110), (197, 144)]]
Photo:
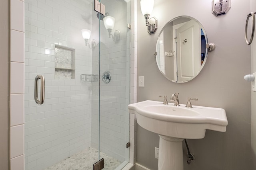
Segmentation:
[(130, 1), (100, 3), (106, 9), (100, 21), (100, 159), (107, 170), (120, 170), (129, 162)]

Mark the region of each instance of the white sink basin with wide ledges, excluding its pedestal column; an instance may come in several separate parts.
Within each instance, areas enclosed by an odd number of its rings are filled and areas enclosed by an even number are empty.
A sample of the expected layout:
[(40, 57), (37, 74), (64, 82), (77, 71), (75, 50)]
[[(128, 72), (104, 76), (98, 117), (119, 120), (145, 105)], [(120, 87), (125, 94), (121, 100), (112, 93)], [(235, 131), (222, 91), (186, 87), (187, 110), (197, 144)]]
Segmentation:
[(136, 114), (138, 124), (154, 133), (181, 139), (202, 139), (206, 129), (225, 132), (228, 120), (226, 111), (214, 107), (192, 108), (163, 105), (162, 102), (146, 100), (128, 105), (130, 113)]

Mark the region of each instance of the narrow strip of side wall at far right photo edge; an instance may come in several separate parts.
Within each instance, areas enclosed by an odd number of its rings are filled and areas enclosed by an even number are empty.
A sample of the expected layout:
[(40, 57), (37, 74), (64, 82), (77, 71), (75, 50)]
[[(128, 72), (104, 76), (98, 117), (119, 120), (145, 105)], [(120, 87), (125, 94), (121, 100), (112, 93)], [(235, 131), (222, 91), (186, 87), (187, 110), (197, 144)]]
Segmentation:
[[(256, 12), (256, 2), (251, 0), (251, 11)], [(256, 41), (251, 44), (251, 73), (256, 72)], [(256, 92), (252, 92), (252, 170), (256, 169)]]

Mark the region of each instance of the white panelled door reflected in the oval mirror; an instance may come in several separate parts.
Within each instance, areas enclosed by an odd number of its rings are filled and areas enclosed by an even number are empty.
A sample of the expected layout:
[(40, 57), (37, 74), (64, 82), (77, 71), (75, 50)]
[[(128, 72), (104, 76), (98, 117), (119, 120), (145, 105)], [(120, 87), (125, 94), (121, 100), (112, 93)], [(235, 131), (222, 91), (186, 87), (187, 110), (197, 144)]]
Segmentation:
[(190, 20), (175, 31), (177, 81), (186, 82), (198, 73), (201, 66), (198, 57), (201, 56), (201, 28), (196, 21)]

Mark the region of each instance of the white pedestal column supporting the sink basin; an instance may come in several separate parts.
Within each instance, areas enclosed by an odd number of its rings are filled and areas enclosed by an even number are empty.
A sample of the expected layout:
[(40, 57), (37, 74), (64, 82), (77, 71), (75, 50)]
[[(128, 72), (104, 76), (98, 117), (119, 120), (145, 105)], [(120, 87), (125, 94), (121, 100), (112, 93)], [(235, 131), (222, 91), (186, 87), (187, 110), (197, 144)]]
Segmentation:
[(158, 170), (183, 170), (183, 139), (159, 135)]

